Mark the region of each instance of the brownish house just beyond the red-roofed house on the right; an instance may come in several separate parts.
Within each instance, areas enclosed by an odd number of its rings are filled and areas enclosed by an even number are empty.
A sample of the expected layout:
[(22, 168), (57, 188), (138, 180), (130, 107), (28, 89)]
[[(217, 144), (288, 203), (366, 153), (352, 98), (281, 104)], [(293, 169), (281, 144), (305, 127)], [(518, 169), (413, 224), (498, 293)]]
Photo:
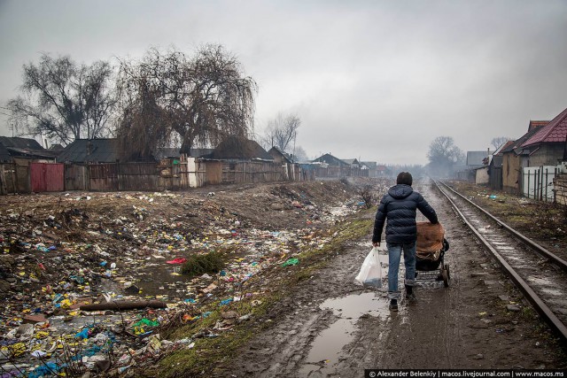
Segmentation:
[(501, 149), (502, 190), (515, 194), (521, 192), (522, 169), (528, 166), (530, 156), (530, 149), (524, 149), (522, 145), (548, 123), (548, 120), (530, 120), (527, 132)]

